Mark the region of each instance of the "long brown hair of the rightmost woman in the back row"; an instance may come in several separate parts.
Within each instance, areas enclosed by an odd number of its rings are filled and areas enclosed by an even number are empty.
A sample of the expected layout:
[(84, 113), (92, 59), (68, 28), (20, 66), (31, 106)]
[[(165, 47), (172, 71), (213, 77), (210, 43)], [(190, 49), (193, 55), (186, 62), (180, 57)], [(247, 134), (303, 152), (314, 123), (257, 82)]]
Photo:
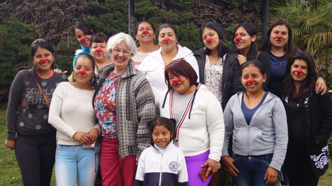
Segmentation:
[(268, 54), (271, 52), (270, 35), (272, 32), (272, 29), (278, 25), (285, 25), (288, 29), (288, 43), (285, 45), (284, 49), (285, 49), (287, 61), (289, 62), (292, 60), (293, 56), (297, 53), (297, 48), (293, 44), (292, 29), (290, 27), (290, 24), (284, 19), (278, 19), (271, 23), (271, 25), (267, 29), (266, 37), (263, 41), (260, 51), (267, 52)]

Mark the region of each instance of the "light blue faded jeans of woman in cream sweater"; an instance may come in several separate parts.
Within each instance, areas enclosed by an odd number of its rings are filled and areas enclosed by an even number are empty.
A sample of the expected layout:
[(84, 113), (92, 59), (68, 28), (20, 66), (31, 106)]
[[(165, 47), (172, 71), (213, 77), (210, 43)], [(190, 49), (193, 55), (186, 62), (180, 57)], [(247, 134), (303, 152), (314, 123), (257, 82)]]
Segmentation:
[(55, 179), (57, 186), (94, 186), (99, 169), (99, 154), (83, 145), (57, 145)]

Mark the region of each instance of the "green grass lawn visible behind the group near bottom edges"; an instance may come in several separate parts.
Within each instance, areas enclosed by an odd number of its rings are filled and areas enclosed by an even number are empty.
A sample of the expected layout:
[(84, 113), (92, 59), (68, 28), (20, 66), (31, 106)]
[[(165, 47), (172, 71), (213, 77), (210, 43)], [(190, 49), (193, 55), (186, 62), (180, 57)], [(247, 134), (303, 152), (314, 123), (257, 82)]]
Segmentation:
[[(5, 111), (0, 109), (0, 186), (22, 186), (22, 177), (17, 165), (14, 151), (9, 150), (3, 143), (6, 139)], [(329, 160), (329, 169), (320, 178), (318, 186), (332, 185), (332, 162)], [(56, 186), (54, 170), (51, 186)]]

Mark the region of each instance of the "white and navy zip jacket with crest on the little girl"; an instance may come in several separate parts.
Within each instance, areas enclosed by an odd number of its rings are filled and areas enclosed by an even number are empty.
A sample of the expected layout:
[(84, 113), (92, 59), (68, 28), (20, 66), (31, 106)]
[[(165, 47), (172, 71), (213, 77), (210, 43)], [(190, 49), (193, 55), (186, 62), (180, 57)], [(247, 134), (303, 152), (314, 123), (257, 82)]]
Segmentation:
[(173, 143), (164, 152), (153, 145), (146, 148), (138, 161), (134, 186), (188, 186), (184, 155)]

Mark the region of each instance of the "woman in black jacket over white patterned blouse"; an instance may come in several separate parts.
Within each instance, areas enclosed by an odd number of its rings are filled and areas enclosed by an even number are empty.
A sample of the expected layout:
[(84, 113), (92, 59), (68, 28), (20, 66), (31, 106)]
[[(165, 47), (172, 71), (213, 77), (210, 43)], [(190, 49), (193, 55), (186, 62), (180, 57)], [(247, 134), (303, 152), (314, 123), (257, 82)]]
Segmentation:
[[(209, 39), (208, 39), (209, 38)], [(199, 29), (199, 41), (204, 48), (196, 49), (199, 80), (212, 92), (224, 109), (232, 95), (242, 91), (238, 54), (229, 51), (222, 43), (223, 29), (208, 22)]]

